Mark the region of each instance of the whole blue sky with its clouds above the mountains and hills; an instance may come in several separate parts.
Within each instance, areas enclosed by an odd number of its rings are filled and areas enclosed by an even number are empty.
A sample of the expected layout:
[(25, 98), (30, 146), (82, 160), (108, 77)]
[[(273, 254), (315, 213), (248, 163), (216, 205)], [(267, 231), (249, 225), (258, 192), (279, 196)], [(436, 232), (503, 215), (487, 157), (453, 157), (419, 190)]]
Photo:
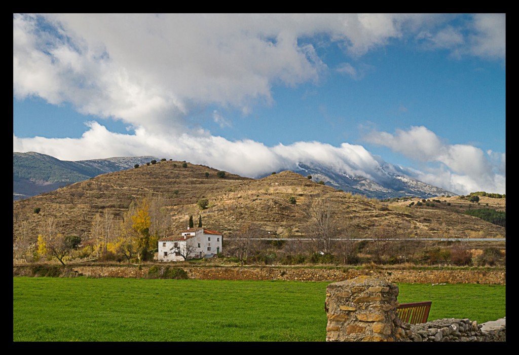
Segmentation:
[(13, 14), (13, 152), (504, 194), (505, 139), (504, 13)]

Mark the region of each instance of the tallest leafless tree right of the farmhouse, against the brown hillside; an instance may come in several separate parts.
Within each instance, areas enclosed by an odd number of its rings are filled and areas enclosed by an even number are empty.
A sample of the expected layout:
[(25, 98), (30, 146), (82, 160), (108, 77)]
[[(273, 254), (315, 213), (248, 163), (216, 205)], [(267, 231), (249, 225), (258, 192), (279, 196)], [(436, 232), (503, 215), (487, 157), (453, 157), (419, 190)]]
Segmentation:
[(308, 238), (313, 241), (316, 252), (332, 253), (333, 239), (339, 234), (333, 218), (335, 207), (330, 197), (320, 195), (307, 203), (304, 227)]

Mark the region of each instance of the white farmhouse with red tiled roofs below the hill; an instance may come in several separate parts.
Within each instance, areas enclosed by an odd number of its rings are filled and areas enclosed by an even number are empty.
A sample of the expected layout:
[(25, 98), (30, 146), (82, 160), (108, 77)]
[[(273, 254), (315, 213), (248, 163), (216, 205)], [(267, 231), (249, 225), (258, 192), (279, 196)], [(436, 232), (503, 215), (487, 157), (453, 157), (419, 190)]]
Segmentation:
[(222, 233), (204, 228), (187, 228), (179, 236), (158, 241), (159, 261), (184, 261), (212, 257), (222, 251)]

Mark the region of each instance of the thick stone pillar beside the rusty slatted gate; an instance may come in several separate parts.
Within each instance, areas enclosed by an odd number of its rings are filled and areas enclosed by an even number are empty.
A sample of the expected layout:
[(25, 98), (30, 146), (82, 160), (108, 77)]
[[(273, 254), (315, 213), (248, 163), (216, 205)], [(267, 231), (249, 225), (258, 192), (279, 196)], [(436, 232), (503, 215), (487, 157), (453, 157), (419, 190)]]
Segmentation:
[(327, 342), (394, 342), (402, 332), (397, 317), (398, 286), (370, 276), (326, 287)]

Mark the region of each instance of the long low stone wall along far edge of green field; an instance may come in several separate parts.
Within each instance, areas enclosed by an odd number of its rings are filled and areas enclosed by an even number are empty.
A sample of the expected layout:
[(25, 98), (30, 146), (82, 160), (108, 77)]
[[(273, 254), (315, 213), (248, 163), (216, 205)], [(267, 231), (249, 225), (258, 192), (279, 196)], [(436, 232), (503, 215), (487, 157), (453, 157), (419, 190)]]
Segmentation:
[[(174, 263), (164, 265), (175, 266)], [(144, 277), (148, 266), (81, 266), (71, 267), (88, 277)], [(13, 266), (13, 274), (26, 275), (30, 267)], [(283, 267), (184, 267), (187, 275), (200, 280), (291, 280), (291, 281), (343, 281), (359, 276), (374, 276), (394, 283), (482, 283), (506, 284), (506, 273), (479, 270), (366, 270), (366, 269), (312, 269)]]

